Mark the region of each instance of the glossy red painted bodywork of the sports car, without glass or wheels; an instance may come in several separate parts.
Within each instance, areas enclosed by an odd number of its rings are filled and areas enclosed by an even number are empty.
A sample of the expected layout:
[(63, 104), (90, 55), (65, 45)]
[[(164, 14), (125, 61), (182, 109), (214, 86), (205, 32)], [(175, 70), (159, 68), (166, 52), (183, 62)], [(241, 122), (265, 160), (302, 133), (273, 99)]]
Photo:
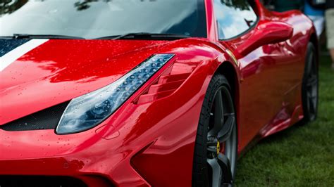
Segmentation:
[[(0, 72), (0, 124), (6, 124), (111, 84), (154, 53), (175, 53), (93, 129), (68, 135), (0, 129), (0, 175), (73, 176), (89, 186), (191, 186), (199, 113), (217, 72), (233, 78), (239, 153), (301, 120), (304, 56), (309, 41), (316, 45), (311, 21), (299, 11), (266, 11), (256, 1), (256, 26), (218, 41), (212, 6), (206, 0), (207, 39), (49, 40)], [(172, 75), (181, 76), (168, 89), (163, 79)], [(151, 85), (164, 89), (141, 98)]]

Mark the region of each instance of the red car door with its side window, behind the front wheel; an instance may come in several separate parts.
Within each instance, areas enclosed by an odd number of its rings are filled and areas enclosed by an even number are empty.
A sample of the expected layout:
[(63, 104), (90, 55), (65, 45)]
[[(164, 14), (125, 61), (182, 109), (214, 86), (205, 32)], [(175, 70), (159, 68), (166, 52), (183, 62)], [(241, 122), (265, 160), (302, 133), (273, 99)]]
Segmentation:
[[(213, 1), (219, 40), (231, 51), (237, 51), (261, 24), (261, 18), (254, 11), (255, 2)], [(284, 45), (285, 41), (260, 46), (243, 55), (235, 52), (242, 74), (238, 122), (242, 137), (240, 148), (256, 138), (265, 127), (290, 117), (285, 94), (291, 85), (284, 79), (289, 79), (287, 70), (291, 62)]]

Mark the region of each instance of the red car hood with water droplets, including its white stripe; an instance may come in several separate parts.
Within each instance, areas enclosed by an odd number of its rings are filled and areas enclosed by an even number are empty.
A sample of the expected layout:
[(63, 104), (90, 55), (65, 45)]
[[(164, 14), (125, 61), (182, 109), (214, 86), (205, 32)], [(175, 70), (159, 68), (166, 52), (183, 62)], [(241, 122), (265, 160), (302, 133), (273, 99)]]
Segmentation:
[(0, 125), (111, 84), (166, 43), (0, 39)]

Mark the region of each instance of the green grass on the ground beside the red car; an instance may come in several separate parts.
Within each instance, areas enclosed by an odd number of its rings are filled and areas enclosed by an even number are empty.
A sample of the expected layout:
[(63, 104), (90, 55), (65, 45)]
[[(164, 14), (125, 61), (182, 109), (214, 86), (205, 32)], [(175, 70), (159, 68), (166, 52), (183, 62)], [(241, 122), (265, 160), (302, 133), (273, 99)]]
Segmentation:
[(318, 119), (264, 138), (237, 162), (236, 186), (334, 186), (334, 71), (321, 57)]

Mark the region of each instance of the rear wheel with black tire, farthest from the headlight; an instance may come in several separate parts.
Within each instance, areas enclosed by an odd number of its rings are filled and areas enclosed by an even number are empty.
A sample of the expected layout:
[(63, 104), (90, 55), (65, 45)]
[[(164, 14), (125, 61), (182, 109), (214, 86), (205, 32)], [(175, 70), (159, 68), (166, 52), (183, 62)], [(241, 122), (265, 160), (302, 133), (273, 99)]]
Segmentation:
[(302, 80), (302, 108), (304, 111), (302, 124), (316, 120), (318, 114), (318, 65), (316, 62), (316, 49), (313, 44), (309, 43)]

